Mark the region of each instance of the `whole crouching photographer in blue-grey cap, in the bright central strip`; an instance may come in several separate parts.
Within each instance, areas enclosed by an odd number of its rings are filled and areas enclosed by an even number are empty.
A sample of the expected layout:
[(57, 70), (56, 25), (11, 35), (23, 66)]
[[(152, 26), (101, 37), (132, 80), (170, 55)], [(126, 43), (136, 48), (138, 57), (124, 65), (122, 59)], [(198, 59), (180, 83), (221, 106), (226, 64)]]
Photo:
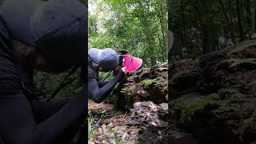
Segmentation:
[[(126, 77), (126, 67), (120, 66), (118, 54), (110, 49), (90, 49), (88, 51), (88, 92), (94, 102), (102, 102), (111, 93), (114, 86)], [(114, 71), (114, 78), (110, 81), (101, 82), (98, 72)]]

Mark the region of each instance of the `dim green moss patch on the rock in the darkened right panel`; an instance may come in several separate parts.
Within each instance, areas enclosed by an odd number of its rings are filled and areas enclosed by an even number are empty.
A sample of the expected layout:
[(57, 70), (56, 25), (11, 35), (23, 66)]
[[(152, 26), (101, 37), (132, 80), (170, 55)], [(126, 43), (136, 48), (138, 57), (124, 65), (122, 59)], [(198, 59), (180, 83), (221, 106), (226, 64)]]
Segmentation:
[[(209, 113), (212, 110), (233, 111), (238, 110), (237, 103), (243, 101), (243, 95), (233, 89), (222, 89), (218, 93), (204, 97), (187, 97), (183, 95), (170, 102), (171, 109), (178, 110), (180, 121), (191, 122), (197, 114)], [(212, 111), (214, 113), (214, 111)], [(256, 119), (256, 118), (255, 118)]]

